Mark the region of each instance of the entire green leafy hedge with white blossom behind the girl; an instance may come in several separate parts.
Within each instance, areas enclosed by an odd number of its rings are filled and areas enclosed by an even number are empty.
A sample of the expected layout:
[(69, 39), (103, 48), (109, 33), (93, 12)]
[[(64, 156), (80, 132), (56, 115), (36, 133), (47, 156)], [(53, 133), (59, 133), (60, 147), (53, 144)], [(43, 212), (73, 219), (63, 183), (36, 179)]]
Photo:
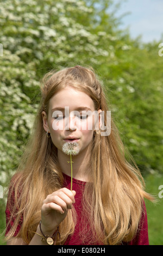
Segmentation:
[(159, 43), (120, 31), (114, 1), (6, 0), (0, 7), (0, 182), (26, 145), (42, 76), (76, 64), (103, 79), (112, 117), (143, 172), (162, 172), (162, 60)]

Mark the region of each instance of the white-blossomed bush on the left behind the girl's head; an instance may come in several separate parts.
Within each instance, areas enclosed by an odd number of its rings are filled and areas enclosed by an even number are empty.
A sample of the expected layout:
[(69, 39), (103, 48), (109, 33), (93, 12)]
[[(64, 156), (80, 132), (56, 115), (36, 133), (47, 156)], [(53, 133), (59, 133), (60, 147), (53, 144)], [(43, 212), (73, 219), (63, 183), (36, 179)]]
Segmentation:
[[(37, 109), (43, 74), (52, 68), (100, 64), (108, 56), (92, 32), (93, 9), (84, 1), (12, 1), (1, 3), (0, 58), (1, 138), (0, 181), (5, 183), (18, 164)], [(87, 25), (88, 24), (88, 25)]]

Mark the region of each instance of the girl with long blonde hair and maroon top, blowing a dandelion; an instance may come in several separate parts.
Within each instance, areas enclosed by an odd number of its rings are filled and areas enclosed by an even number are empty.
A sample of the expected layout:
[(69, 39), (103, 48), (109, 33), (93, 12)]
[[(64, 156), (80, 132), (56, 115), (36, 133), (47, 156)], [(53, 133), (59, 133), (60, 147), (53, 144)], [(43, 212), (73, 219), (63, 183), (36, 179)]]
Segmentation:
[[(50, 72), (41, 92), (33, 136), (10, 183), (7, 244), (148, 245), (143, 199), (152, 197), (124, 157), (114, 122), (106, 120), (104, 89), (93, 70)], [(102, 121), (111, 131), (103, 136)], [(78, 151), (72, 161), (62, 150), (70, 144)]]

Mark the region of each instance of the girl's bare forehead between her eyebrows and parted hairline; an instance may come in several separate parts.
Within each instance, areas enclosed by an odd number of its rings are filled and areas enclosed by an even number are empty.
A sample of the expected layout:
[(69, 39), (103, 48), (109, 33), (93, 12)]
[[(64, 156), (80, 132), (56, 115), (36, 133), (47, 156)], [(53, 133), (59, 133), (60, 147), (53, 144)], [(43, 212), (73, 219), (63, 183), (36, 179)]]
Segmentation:
[(70, 86), (56, 93), (49, 101), (50, 109), (64, 108), (65, 106), (68, 106), (70, 110), (76, 110), (80, 106), (95, 110), (93, 100), (89, 95)]

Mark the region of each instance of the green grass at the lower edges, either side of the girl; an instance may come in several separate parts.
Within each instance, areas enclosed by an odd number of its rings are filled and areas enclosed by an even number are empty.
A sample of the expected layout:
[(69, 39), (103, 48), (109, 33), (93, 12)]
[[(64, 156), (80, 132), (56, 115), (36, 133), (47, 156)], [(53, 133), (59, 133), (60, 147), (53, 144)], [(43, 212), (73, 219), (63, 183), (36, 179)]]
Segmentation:
[[(147, 192), (155, 195), (159, 199), (158, 203), (153, 204), (151, 201), (145, 200), (148, 216), (148, 234), (150, 245), (163, 245), (163, 198), (159, 198), (159, 186), (163, 185), (163, 175), (149, 174), (144, 177)], [(163, 195), (163, 190), (162, 193)], [(4, 199), (0, 199), (0, 234), (5, 229), (5, 203)], [(0, 235), (0, 245), (5, 245), (4, 235)]]

